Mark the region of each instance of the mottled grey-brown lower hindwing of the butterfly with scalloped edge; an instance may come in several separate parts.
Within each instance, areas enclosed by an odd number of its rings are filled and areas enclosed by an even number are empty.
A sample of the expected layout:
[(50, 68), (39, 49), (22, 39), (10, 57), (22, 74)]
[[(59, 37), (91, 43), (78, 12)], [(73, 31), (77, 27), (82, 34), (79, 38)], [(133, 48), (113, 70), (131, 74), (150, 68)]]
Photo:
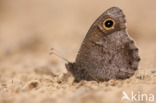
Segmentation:
[(125, 79), (137, 70), (140, 60), (138, 49), (125, 32), (114, 32), (95, 45), (89, 49), (85, 62), (81, 62), (93, 79)]

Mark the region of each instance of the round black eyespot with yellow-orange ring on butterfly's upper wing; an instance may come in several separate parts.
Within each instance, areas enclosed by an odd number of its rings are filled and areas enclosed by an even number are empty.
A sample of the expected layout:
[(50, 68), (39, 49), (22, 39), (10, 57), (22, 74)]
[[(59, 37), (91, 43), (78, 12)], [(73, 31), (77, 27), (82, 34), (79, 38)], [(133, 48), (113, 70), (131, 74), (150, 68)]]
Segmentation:
[(111, 18), (107, 18), (103, 22), (103, 27), (105, 30), (112, 30), (114, 29), (115, 21)]

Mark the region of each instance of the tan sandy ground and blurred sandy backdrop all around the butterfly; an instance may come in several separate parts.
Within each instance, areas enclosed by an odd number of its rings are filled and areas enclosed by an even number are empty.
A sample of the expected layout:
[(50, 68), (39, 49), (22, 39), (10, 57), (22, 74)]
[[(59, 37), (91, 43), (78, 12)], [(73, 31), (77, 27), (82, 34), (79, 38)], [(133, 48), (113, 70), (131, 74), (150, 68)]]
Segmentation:
[[(151, 103), (156, 96), (155, 0), (1, 0), (0, 103)], [(93, 21), (107, 8), (118, 6), (127, 17), (128, 31), (140, 48), (141, 63), (127, 80), (97, 83), (67, 73), (65, 62), (49, 55), (50, 48), (74, 61)], [(139, 101), (141, 94), (147, 98)], [(147, 100), (146, 100), (147, 99)], [(154, 98), (155, 99), (155, 98)], [(152, 103), (156, 103), (156, 100)]]

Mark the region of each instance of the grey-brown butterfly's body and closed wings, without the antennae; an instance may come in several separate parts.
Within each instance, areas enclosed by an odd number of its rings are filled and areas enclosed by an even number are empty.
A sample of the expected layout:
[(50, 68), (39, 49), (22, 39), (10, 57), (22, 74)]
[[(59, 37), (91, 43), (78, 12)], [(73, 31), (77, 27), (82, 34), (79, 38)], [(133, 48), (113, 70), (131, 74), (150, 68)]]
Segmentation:
[(126, 79), (138, 68), (140, 57), (126, 30), (121, 9), (112, 7), (91, 26), (76, 57), (66, 68), (77, 81)]

